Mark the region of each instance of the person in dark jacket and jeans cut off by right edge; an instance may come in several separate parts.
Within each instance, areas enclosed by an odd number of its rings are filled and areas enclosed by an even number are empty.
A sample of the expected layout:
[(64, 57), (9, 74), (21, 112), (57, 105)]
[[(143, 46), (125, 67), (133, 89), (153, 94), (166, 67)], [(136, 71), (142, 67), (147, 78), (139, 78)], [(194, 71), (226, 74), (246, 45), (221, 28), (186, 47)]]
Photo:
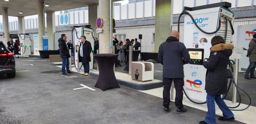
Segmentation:
[(246, 56), (249, 57), (250, 64), (245, 72), (244, 78), (249, 80), (251, 80), (251, 78), (256, 79), (254, 75), (254, 70), (256, 68), (256, 34), (253, 35), (253, 39), (249, 43), (249, 49)]

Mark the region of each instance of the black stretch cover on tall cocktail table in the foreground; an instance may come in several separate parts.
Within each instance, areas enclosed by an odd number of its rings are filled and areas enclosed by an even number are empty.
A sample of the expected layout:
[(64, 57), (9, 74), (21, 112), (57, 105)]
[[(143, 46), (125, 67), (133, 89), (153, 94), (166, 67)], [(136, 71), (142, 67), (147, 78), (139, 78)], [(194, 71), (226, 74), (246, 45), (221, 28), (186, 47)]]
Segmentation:
[(110, 87), (118, 87), (118, 82), (114, 73), (114, 64), (118, 54), (96, 54), (96, 58), (99, 66), (99, 78), (95, 87), (100, 88), (102, 91)]

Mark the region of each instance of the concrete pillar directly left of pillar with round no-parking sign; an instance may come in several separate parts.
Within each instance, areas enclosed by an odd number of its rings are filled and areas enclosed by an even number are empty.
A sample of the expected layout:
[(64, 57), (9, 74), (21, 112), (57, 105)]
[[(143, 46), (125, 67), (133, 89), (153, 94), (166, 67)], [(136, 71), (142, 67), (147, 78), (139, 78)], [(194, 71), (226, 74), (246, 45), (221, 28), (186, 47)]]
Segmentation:
[(93, 4), (88, 6), (89, 7), (88, 18), (89, 18), (89, 25), (91, 25), (91, 28), (95, 30), (94, 37), (99, 39), (99, 35), (98, 33), (96, 33), (97, 6), (98, 4)]

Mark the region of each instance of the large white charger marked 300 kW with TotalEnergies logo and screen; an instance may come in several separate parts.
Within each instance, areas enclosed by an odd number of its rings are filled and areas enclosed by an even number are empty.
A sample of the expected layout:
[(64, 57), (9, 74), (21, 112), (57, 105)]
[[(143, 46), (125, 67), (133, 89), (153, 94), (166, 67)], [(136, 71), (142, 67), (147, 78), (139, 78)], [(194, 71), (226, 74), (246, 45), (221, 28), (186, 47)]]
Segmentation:
[[(234, 13), (225, 7), (200, 7), (190, 8), (192, 11), (189, 11), (189, 14), (192, 15), (194, 21), (189, 15), (185, 15), (184, 19), (183, 43), (190, 54), (189, 64), (184, 65), (184, 90), (191, 100), (205, 102), (207, 93), (204, 90), (206, 77), (206, 69), (203, 66), (204, 58), (209, 58), (212, 47), (211, 39), (214, 36), (219, 35), (224, 38), (226, 34), (226, 43), (231, 41), (232, 29), (225, 20), (230, 20), (233, 24)], [(206, 34), (200, 31), (194, 23), (205, 32), (212, 33), (219, 30), (212, 34)], [(226, 25), (228, 25), (227, 31)]]

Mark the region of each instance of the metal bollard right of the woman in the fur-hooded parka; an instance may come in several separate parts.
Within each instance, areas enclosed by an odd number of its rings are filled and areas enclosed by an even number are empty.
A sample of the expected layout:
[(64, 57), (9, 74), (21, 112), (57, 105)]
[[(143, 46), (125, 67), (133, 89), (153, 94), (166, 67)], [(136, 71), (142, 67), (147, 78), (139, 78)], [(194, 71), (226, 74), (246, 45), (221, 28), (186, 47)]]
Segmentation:
[[(235, 64), (234, 64), (234, 80), (236, 85), (238, 84), (238, 70), (239, 70), (239, 59), (235, 59)], [(237, 97), (237, 90), (235, 87), (235, 84), (233, 84), (233, 95), (232, 95), (232, 103), (237, 103), (236, 100)]]

